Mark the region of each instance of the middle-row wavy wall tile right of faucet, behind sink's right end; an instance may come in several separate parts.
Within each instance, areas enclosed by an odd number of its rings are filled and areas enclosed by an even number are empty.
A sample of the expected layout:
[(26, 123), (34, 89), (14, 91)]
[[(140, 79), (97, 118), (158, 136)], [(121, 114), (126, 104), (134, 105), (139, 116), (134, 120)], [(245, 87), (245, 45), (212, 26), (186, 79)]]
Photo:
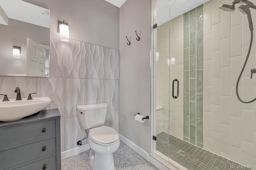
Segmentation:
[(59, 109), (61, 119), (65, 118), (65, 79), (37, 78), (37, 97), (49, 97), (50, 105), (46, 109)]

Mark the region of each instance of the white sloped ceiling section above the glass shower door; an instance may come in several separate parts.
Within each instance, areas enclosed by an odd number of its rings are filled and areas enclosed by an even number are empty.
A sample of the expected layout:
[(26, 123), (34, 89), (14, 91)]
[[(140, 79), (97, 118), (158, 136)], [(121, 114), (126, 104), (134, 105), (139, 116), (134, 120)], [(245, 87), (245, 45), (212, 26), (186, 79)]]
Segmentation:
[(157, 0), (157, 24), (162, 25), (209, 0)]

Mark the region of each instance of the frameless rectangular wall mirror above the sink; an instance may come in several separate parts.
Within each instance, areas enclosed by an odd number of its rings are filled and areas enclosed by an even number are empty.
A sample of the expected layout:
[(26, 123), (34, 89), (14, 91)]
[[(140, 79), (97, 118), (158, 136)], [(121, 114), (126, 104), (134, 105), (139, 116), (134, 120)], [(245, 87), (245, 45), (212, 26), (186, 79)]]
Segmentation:
[(50, 76), (50, 10), (0, 0), (0, 75)]

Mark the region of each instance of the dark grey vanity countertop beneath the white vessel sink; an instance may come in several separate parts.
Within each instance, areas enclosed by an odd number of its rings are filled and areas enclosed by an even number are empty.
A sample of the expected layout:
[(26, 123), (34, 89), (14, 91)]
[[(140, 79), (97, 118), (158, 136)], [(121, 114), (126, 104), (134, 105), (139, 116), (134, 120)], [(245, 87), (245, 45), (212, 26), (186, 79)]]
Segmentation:
[(18, 125), (21, 123), (30, 123), (34, 121), (42, 121), (47, 119), (53, 119), (56, 117), (60, 117), (59, 109), (42, 110), (42, 111), (39, 111), (38, 113), (24, 117), (23, 119), (20, 119), (17, 121), (6, 121), (6, 122), (0, 121), (0, 127)]

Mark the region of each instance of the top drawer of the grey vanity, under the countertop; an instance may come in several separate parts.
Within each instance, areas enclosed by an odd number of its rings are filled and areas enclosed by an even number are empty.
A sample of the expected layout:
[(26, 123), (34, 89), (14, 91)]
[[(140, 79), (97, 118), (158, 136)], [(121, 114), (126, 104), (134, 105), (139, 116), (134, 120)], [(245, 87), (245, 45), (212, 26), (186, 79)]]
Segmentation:
[(0, 143), (0, 150), (55, 135), (55, 120), (2, 128), (0, 129), (0, 141), (2, 141)]

